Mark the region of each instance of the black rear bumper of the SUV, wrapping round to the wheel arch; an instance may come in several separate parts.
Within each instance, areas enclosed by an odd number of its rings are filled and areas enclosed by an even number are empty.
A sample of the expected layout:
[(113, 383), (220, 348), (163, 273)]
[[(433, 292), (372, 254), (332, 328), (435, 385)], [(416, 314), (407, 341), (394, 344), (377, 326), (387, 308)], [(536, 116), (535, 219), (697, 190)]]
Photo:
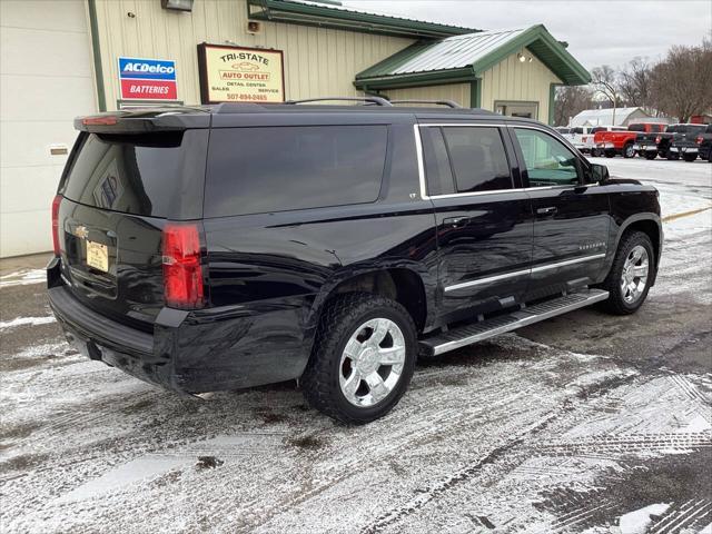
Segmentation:
[(180, 393), (297, 378), (310, 353), (305, 299), (196, 312), (162, 308), (152, 334), (117, 323), (78, 300), (47, 268), (49, 304), (68, 343), (85, 356)]

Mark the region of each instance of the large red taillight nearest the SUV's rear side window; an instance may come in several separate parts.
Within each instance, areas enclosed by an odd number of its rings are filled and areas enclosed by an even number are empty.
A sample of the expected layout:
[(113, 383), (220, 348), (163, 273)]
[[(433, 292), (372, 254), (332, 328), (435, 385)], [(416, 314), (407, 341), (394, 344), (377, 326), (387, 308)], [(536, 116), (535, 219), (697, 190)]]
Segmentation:
[(164, 227), (164, 289), (168, 306), (205, 306), (200, 254), (198, 225), (168, 222)]

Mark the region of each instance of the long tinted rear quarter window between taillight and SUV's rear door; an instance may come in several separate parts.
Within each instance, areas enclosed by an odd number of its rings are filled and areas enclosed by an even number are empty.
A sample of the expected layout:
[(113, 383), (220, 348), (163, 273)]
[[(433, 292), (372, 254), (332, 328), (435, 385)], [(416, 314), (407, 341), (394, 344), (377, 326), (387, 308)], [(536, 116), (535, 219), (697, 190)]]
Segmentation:
[(206, 217), (373, 202), (386, 141), (386, 126), (216, 129)]

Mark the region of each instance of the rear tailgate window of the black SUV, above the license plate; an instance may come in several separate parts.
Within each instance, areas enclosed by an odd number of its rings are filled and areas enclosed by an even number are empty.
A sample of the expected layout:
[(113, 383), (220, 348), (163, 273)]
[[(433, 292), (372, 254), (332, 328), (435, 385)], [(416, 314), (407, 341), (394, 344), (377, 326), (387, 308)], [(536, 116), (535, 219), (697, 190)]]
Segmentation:
[(186, 152), (181, 132), (82, 136), (61, 186), (65, 197), (112, 211), (168, 216)]

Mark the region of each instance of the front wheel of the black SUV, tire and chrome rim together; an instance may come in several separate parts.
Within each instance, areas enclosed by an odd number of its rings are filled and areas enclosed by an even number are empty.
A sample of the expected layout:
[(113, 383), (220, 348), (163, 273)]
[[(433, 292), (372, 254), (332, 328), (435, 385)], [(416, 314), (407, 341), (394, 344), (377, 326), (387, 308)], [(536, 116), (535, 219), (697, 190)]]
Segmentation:
[(609, 276), (601, 285), (610, 294), (604, 303), (606, 310), (614, 315), (635, 313), (647, 297), (654, 268), (655, 256), (650, 237), (642, 231), (625, 234)]

